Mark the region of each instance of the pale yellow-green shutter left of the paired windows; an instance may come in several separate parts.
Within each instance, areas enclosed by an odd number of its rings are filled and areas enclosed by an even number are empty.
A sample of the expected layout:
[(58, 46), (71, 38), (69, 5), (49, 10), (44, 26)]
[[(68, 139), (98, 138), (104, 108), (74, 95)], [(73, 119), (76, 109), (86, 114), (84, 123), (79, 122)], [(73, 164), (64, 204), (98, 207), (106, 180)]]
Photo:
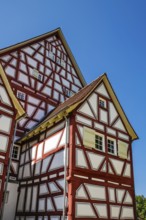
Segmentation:
[(91, 128), (84, 127), (83, 145), (85, 147), (95, 147), (95, 131)]

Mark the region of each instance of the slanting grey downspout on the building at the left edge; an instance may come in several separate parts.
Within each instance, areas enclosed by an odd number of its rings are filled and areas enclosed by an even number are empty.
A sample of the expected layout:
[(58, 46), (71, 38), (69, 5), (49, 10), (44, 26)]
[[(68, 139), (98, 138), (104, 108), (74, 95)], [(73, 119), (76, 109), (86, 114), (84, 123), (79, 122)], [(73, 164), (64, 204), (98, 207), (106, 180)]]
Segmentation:
[(13, 140), (12, 140), (11, 147), (10, 147), (9, 163), (8, 163), (7, 177), (6, 177), (6, 183), (5, 183), (5, 188), (4, 188), (4, 199), (3, 199), (2, 208), (1, 208), (1, 212), (0, 212), (0, 220), (3, 219), (5, 200), (6, 200), (6, 192), (7, 192), (7, 188), (8, 188), (8, 181), (9, 181), (11, 161), (12, 161), (12, 153), (13, 153), (13, 147), (14, 147), (14, 138), (16, 135), (17, 124), (20, 120), (22, 120), (22, 117), (16, 121), (15, 128), (14, 128), (14, 134), (13, 134)]

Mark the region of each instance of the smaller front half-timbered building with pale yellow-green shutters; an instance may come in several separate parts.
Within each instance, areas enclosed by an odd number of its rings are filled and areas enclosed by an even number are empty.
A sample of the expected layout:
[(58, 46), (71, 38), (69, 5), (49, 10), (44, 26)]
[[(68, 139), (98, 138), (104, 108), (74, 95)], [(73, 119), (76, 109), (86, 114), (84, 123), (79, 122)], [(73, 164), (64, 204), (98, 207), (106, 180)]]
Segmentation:
[(69, 220), (136, 219), (131, 151), (136, 138), (102, 75), (19, 141), (17, 219), (61, 219), (64, 204)]

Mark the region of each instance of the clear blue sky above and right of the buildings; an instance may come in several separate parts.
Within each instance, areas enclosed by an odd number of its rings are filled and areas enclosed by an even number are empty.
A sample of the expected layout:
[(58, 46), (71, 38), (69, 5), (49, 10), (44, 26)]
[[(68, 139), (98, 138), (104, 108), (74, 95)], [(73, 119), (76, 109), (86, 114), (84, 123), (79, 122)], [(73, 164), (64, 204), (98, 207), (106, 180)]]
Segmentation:
[(0, 48), (61, 27), (87, 83), (106, 72), (139, 140), (135, 190), (146, 196), (146, 1), (1, 0)]

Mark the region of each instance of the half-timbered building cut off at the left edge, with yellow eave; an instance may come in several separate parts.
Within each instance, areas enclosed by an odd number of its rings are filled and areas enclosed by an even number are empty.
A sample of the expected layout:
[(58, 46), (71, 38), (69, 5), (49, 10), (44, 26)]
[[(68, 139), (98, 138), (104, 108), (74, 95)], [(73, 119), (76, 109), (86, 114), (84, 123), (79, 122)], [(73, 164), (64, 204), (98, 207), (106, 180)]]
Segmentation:
[(15, 97), (0, 65), (0, 209), (2, 209), (5, 196), (3, 194), (4, 188), (11, 185), (11, 188), (15, 189), (15, 184), (8, 184), (6, 181), (8, 180), (7, 175), (13, 173), (13, 169), (18, 169), (18, 164), (15, 161), (11, 161), (12, 163), (10, 164), (9, 158), (10, 154), (12, 154), (16, 123), (24, 116), (25, 111)]

